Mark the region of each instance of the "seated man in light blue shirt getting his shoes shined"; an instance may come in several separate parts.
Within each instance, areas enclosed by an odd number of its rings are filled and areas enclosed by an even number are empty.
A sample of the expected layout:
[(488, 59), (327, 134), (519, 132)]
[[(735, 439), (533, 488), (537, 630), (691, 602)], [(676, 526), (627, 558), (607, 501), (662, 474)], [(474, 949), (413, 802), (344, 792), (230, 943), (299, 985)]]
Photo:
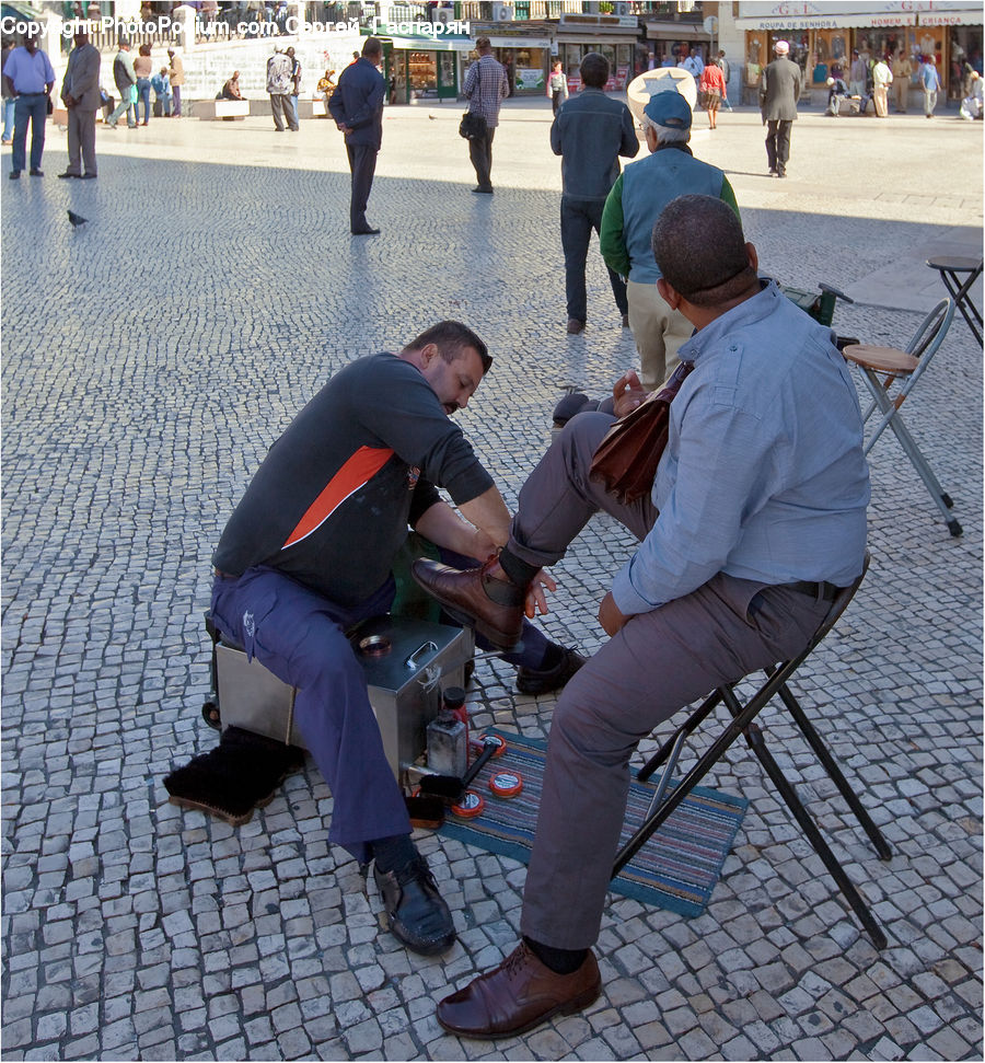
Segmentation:
[(554, 713), (523, 939), (438, 1005), (454, 1033), (520, 1033), (599, 996), (591, 947), (637, 743), (716, 686), (800, 652), (834, 588), (862, 569), (861, 415), (830, 331), (758, 279), (755, 249), (721, 199), (669, 204), (653, 249), (661, 296), (697, 332), (681, 348), (694, 371), (670, 407), (652, 493), (626, 506), (589, 478), (613, 418), (578, 414), (521, 489), (498, 561), (478, 574), (413, 567), (440, 601), (509, 634), (540, 568), (592, 513), (605, 510), (640, 540), (599, 610), (611, 638)]

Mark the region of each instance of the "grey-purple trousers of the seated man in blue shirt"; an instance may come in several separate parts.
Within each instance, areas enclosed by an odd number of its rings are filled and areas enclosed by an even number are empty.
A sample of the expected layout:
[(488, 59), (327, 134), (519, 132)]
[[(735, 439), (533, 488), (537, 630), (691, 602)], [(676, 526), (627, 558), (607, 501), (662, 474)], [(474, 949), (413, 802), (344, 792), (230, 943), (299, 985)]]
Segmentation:
[[(612, 421), (607, 414), (572, 417), (533, 471), (510, 533), (518, 557), (553, 564), (600, 509), (637, 539), (652, 527), (649, 497), (623, 506), (588, 478)], [(554, 713), (523, 934), (554, 948), (594, 944), (639, 740), (716, 686), (800, 652), (827, 611), (808, 594), (719, 574), (634, 616), (603, 645)]]

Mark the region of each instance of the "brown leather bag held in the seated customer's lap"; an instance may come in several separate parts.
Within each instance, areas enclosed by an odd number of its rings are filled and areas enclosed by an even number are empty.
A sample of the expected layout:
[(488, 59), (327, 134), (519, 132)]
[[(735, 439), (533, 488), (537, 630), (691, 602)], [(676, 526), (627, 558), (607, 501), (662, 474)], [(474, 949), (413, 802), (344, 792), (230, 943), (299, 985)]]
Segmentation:
[(601, 479), (605, 489), (624, 505), (652, 488), (667, 446), (670, 404), (692, 369), (694, 362), (682, 361), (660, 391), (621, 417), (599, 443), (589, 476)]

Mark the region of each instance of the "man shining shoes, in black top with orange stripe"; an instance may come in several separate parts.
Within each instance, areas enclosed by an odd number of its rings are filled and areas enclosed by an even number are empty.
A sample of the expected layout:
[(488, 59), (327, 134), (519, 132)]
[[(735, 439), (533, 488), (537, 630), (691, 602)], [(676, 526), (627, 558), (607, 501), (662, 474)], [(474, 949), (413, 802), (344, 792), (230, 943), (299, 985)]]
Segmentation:
[[(412, 842), (345, 631), (390, 609), (408, 523), (470, 558), (506, 542), (502, 497), (450, 419), (491, 361), (474, 332), (444, 321), (398, 355), (339, 370), (270, 448), (212, 558), (217, 627), (298, 689), (296, 720), (334, 798), (329, 840), (374, 860), (391, 929), (422, 954), (453, 943), (452, 918)], [(505, 659), (535, 692), (582, 662), (531, 625), (523, 642)]]

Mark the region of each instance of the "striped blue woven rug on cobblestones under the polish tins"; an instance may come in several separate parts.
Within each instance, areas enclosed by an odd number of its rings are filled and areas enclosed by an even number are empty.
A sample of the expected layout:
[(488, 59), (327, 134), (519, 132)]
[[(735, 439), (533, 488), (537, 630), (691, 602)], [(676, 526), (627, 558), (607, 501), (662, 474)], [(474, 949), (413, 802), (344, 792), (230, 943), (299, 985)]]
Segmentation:
[[(536, 830), (546, 742), (495, 729), (485, 733), (499, 735), (507, 742), (506, 752), (489, 761), (470, 787), (482, 795), (485, 808), (475, 819), (449, 813), (441, 833), (525, 864)], [(489, 778), (501, 771), (518, 772), (523, 778), (517, 797), (505, 799), (489, 790)], [(653, 782), (630, 783), (621, 844), (642, 822), (659, 781), (658, 775)], [(681, 915), (700, 915), (748, 806), (744, 798), (695, 787), (623, 868), (612, 891)]]

